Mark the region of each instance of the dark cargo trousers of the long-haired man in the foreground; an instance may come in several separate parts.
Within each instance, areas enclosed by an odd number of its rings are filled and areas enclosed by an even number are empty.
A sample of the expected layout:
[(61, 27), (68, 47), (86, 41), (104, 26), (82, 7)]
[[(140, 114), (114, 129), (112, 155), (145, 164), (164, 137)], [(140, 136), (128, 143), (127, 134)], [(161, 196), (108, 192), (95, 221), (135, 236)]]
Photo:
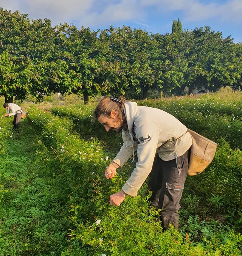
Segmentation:
[(152, 206), (162, 209), (158, 219), (164, 230), (169, 228), (169, 223), (178, 229), (179, 202), (188, 173), (189, 153), (190, 150), (170, 161), (155, 156), (148, 183), (148, 189), (154, 193), (149, 200)]

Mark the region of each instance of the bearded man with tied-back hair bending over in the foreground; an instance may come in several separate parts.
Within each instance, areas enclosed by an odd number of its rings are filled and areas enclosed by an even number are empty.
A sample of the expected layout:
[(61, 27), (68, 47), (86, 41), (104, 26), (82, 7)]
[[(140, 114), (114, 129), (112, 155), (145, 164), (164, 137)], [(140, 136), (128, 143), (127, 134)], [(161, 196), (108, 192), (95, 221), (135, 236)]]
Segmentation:
[(110, 195), (110, 204), (119, 206), (127, 195), (136, 196), (149, 177), (149, 201), (161, 209), (163, 229), (178, 229), (178, 209), (188, 173), (192, 138), (187, 127), (163, 110), (138, 106), (123, 98), (107, 96), (95, 109), (95, 117), (107, 132), (121, 132), (123, 146), (105, 171), (112, 179), (116, 169), (137, 151), (138, 162), (123, 188)]

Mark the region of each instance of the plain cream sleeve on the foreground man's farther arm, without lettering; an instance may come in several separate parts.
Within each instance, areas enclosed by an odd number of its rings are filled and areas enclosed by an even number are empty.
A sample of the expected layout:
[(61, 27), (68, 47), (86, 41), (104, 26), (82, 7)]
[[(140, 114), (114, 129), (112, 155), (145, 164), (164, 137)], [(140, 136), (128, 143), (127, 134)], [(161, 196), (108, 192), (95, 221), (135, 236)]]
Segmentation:
[[(137, 150), (137, 144), (132, 143), (132, 140), (130, 139), (130, 136), (122, 131), (122, 138), (123, 138), (123, 146), (119, 150), (116, 157), (113, 159), (113, 162), (115, 162), (118, 165), (123, 165), (124, 163), (129, 160), (131, 155), (133, 155), (133, 150)], [(133, 144), (133, 145), (132, 145)]]

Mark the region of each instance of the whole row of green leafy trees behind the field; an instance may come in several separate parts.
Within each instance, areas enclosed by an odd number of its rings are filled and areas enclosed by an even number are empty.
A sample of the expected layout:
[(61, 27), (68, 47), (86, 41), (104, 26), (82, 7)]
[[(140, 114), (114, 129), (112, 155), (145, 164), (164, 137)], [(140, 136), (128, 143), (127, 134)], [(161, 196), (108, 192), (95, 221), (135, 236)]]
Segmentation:
[(51, 92), (97, 94), (161, 88), (180, 94), (195, 87), (216, 91), (241, 85), (242, 45), (209, 27), (172, 33), (110, 27), (91, 31), (74, 25), (51, 27), (49, 19), (0, 8), (0, 94), (10, 102), (26, 94), (39, 100)]

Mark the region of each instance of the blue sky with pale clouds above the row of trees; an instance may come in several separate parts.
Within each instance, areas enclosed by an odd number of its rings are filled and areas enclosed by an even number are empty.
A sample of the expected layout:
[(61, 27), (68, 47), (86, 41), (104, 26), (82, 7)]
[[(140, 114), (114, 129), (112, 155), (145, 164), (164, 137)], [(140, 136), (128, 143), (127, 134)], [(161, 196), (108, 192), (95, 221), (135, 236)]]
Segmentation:
[(92, 30), (126, 25), (164, 34), (180, 18), (183, 28), (210, 26), (242, 42), (242, 0), (0, 0), (0, 7)]

